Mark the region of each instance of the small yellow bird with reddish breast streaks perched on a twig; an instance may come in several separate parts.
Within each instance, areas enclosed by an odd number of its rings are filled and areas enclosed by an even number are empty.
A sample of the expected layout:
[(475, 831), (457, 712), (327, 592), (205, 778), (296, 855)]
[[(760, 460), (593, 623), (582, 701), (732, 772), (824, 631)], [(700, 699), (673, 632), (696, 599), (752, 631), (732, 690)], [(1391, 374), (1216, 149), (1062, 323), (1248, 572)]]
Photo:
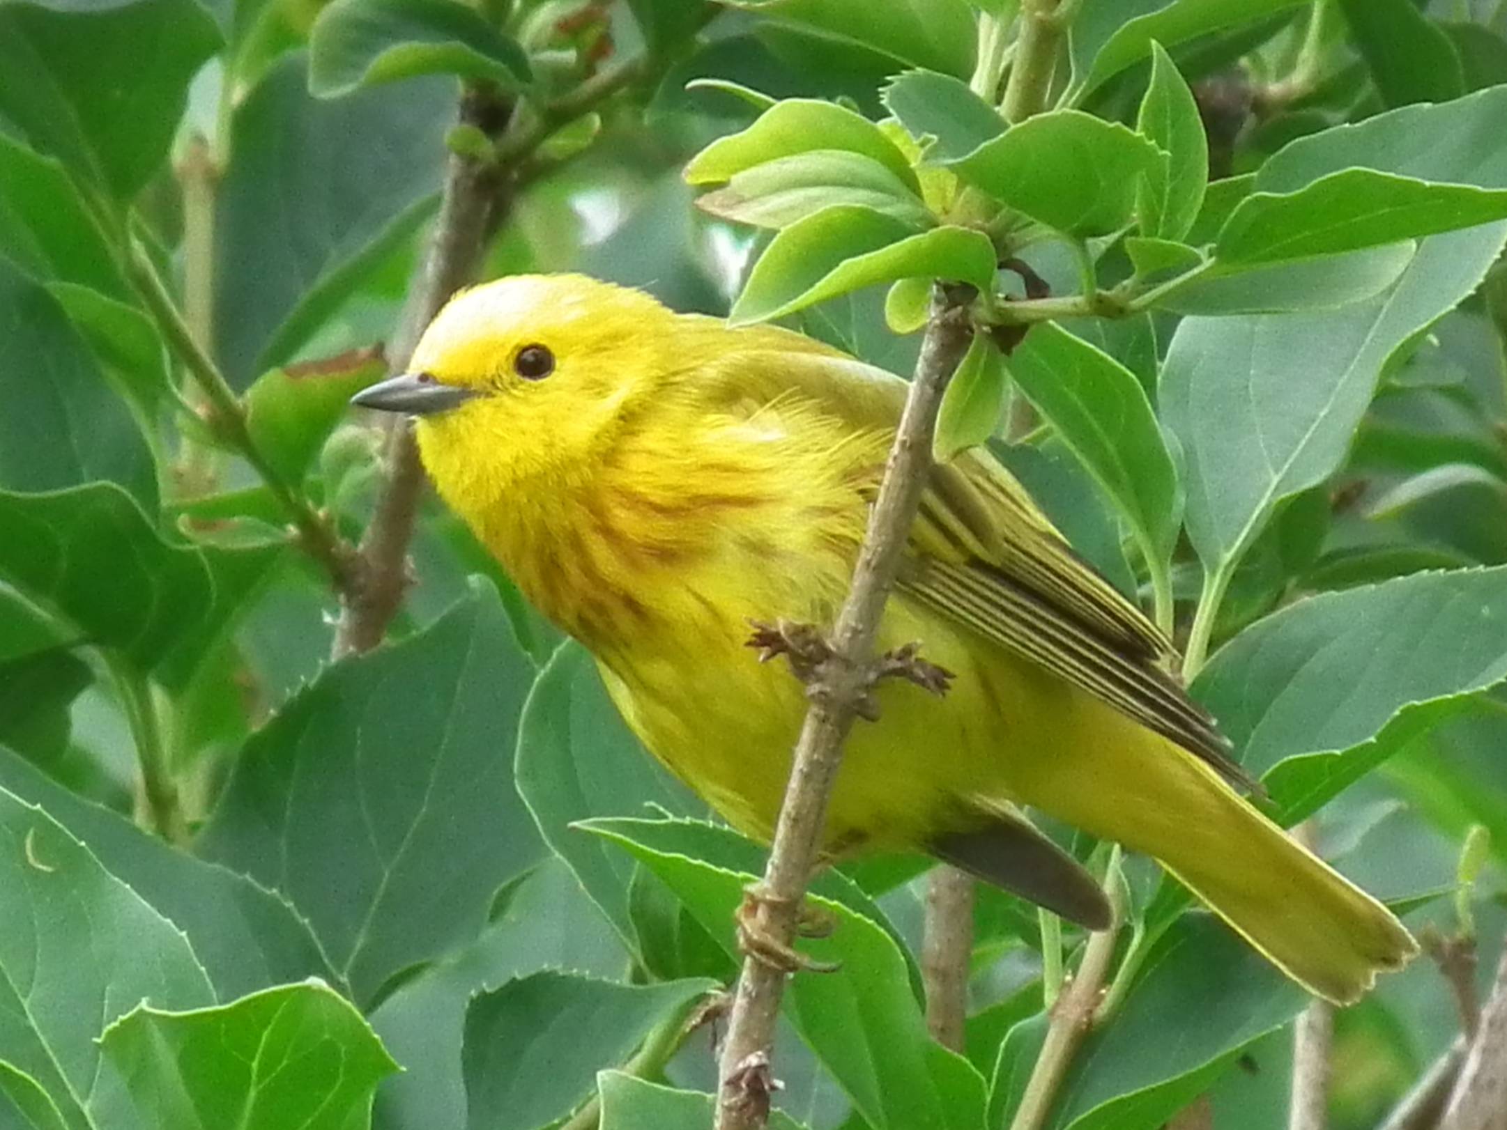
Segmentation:
[[(750, 621), (830, 624), (906, 384), (787, 330), (681, 315), (592, 279), (466, 291), (411, 372), (423, 464), (524, 595), (595, 657), (643, 744), (769, 839), (806, 711)], [(921, 640), (936, 698), (888, 681), (853, 732), (824, 853), (922, 850), (1105, 928), (1102, 889), (1020, 815), (1144, 851), (1311, 991), (1359, 997), (1417, 945), (1228, 783), (1168, 640), (989, 454), (931, 472), (882, 648)]]

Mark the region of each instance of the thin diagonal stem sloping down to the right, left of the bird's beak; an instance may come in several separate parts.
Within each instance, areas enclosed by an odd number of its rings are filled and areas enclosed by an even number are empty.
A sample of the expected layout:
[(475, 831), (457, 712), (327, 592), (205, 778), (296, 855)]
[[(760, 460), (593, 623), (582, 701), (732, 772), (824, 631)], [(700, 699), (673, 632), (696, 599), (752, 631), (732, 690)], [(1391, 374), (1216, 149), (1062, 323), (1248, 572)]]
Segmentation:
[(324, 567), (330, 574), (330, 580), (338, 588), (342, 588), (348, 579), (348, 547), (330, 523), (283, 479), (277, 469), (256, 447), (247, 426), (246, 408), (241, 405), (240, 398), (237, 398), (225, 380), (220, 368), (199, 345), (188, 322), (184, 321), (182, 312), (169, 294), (167, 283), (157, 273), (157, 265), (152, 262), (151, 255), (134, 238), (130, 240), (124, 265), (127, 277), (130, 277), (131, 285), (146, 306), (146, 312), (157, 322), (157, 328), (166, 339), (167, 347), (184, 363), (184, 369), (203, 395), (209, 428), (231, 443), (252, 464), (252, 469), (267, 484), (267, 490), (298, 532), (298, 539), (304, 551)]

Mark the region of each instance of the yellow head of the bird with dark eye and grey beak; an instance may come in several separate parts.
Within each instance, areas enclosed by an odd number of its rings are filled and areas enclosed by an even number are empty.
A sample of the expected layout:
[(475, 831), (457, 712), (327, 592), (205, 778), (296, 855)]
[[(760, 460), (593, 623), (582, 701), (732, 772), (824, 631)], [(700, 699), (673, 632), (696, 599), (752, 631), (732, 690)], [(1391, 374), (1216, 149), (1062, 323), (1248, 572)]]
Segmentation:
[(353, 404), (416, 416), (425, 467), (467, 517), (524, 484), (588, 475), (663, 374), (674, 315), (577, 274), (512, 276), (461, 292), (408, 372)]

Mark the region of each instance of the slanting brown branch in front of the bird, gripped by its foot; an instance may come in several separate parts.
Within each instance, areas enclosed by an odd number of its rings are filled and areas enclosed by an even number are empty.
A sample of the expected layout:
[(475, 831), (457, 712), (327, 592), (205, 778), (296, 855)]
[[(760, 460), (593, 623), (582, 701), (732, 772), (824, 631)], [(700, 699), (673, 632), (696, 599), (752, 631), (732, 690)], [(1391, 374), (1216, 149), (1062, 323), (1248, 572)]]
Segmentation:
[[(874, 642), (885, 601), (900, 570), (910, 524), (931, 466), (942, 392), (967, 351), (967, 288), (939, 286), (916, 375), (906, 398), (894, 446), (868, 518), (853, 571), (853, 588), (832, 633), (832, 657), (808, 687), (811, 708), (800, 729), (764, 869), (755, 925), (788, 946), (796, 933), (806, 881), (818, 860), (827, 799), (842, 759), (842, 743), (873, 683)], [(749, 955), (743, 961), (722, 1053), (717, 1130), (752, 1130), (769, 1115), (769, 1062), (785, 973)]]

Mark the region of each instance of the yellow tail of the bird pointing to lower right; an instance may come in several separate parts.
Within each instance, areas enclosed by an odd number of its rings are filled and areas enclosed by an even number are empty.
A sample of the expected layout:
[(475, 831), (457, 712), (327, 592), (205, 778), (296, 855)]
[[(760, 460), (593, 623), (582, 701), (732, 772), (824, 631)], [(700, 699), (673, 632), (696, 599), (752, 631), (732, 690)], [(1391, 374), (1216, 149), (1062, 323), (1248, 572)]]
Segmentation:
[[(1084, 789), (1025, 797), (1094, 835), (1157, 859), (1255, 949), (1310, 991), (1358, 1000), (1418, 945), (1397, 918), (1245, 802), (1204, 762), (1144, 732), (1111, 803)], [(1141, 756), (1138, 756), (1141, 755)], [(1121, 765), (1121, 768), (1126, 768)], [(1058, 783), (1047, 783), (1047, 782)], [(1127, 796), (1124, 785), (1136, 782)], [(1040, 791), (1040, 789), (1032, 789)]]

